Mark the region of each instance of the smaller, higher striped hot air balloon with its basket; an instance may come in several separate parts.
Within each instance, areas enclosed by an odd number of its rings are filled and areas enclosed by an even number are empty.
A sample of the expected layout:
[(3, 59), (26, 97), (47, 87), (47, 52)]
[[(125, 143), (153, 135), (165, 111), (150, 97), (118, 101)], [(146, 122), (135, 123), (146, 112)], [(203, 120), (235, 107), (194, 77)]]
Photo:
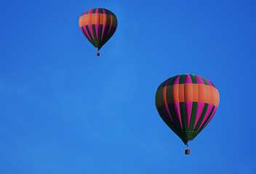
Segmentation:
[[(88, 9), (79, 18), (81, 32), (93, 46), (101, 47), (113, 36), (117, 28), (116, 15), (108, 9)], [(97, 56), (100, 54), (97, 53)]]

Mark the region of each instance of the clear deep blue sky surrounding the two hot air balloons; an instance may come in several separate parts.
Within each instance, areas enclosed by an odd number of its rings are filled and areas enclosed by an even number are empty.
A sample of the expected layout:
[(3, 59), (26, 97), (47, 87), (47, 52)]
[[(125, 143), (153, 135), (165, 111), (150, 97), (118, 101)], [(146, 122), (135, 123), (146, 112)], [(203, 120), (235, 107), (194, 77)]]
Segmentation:
[[(100, 50), (79, 29), (116, 14)], [(2, 1), (0, 173), (255, 173), (255, 1)], [(159, 84), (192, 73), (220, 93), (190, 143), (159, 117)]]

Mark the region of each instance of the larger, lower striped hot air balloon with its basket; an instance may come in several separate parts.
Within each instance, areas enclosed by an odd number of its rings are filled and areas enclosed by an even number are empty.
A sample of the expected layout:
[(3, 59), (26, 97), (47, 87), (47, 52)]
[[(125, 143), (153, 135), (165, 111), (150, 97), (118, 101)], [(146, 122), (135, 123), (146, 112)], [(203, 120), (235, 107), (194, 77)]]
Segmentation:
[[(199, 75), (176, 75), (156, 91), (156, 109), (185, 145), (212, 120), (220, 96), (216, 86)], [(185, 154), (189, 154), (189, 149)]]

